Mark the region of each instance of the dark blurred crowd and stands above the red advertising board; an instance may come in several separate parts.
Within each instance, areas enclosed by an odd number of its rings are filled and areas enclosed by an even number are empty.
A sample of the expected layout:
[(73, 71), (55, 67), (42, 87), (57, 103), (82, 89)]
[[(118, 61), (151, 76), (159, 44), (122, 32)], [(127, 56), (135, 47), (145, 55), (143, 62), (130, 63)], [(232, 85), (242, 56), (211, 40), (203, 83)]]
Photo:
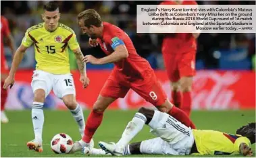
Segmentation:
[[(41, 13), (47, 1), (1, 1), (1, 15), (9, 20), (9, 27), (16, 46), (30, 26), (42, 22)], [(136, 34), (136, 5), (159, 4), (161, 1), (58, 1), (61, 11), (60, 22), (70, 26), (76, 34), (84, 54), (104, 56), (100, 48), (89, 48), (88, 37), (83, 36), (76, 24), (76, 15), (84, 9), (96, 9), (106, 22), (116, 24), (132, 38), (140, 56), (147, 58), (153, 69), (163, 69), (161, 42), (163, 36), (157, 34)], [(207, 5), (249, 5), (255, 1), (197, 1)], [(11, 64), (11, 54), (5, 51)], [(255, 66), (255, 34), (201, 34), (198, 38), (197, 69), (241, 69)], [(26, 53), (21, 69), (34, 69), (34, 50)], [(72, 69), (76, 69), (72, 58)], [(101, 69), (108, 69), (104, 65)], [(94, 68), (89, 67), (89, 68)]]

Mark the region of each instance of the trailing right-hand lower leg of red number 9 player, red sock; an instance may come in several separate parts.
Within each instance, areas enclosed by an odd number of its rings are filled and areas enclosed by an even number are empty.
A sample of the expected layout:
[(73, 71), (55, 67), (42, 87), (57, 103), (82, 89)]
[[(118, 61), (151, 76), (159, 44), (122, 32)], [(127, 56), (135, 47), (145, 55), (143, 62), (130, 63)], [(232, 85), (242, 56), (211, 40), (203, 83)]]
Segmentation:
[(188, 115), (179, 108), (176, 108), (176, 106), (174, 106), (174, 104), (172, 104), (168, 99), (165, 100), (165, 102), (161, 106), (155, 107), (161, 112), (170, 114), (178, 121), (182, 122), (182, 124), (184, 124), (185, 126), (195, 128), (195, 124), (193, 124)]

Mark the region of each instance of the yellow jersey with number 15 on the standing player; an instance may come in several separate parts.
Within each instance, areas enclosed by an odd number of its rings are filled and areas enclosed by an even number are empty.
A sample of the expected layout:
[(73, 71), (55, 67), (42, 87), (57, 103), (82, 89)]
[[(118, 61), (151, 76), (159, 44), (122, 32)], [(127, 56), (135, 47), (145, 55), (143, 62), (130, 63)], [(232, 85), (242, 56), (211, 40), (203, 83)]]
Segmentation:
[(36, 69), (53, 74), (70, 73), (68, 47), (79, 48), (74, 31), (63, 24), (58, 24), (54, 32), (45, 29), (45, 23), (28, 28), (22, 45), (34, 44)]

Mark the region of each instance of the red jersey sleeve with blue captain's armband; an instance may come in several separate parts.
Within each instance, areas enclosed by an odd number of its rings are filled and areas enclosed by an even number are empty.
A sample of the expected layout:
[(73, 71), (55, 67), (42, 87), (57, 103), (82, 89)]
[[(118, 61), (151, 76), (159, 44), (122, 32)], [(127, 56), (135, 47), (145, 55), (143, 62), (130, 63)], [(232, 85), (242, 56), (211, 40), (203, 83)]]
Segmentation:
[(111, 45), (113, 50), (116, 50), (117, 46), (125, 45), (124, 40), (122, 38), (122, 32), (109, 32), (107, 34), (107, 42)]

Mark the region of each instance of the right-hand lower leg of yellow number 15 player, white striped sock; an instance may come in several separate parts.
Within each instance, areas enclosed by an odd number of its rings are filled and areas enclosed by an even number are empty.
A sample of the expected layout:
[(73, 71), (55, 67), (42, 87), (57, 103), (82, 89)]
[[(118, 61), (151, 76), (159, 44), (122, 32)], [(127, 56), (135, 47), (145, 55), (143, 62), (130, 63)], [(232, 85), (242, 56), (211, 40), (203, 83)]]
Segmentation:
[(64, 95), (62, 97), (63, 103), (67, 106), (67, 108), (72, 113), (72, 116), (76, 120), (76, 123), (79, 126), (79, 131), (81, 136), (84, 135), (84, 113), (82, 112), (82, 108), (79, 106), (79, 104), (76, 102), (76, 97), (74, 94), (68, 94)]

